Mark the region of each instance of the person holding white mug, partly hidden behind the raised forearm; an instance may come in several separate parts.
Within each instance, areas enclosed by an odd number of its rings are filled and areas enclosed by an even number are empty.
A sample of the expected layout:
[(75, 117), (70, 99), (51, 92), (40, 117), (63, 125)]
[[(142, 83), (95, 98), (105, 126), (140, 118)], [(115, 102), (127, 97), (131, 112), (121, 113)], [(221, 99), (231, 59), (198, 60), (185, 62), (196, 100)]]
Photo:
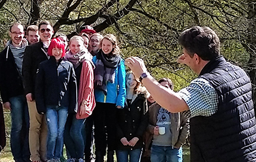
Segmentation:
[[(173, 82), (169, 78), (161, 78), (158, 82), (173, 90)], [(182, 113), (168, 112), (154, 103), (149, 107), (146, 134), (148, 138), (145, 139), (145, 151), (150, 153), (151, 150), (151, 161), (182, 162), (182, 145), (189, 134), (189, 118)]]

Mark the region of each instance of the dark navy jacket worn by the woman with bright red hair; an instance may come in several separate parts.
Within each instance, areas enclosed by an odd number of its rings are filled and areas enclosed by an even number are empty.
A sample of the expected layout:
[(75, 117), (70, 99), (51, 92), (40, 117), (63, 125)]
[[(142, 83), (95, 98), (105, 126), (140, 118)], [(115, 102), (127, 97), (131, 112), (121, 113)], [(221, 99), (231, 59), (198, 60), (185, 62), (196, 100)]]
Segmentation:
[(61, 60), (58, 64), (52, 56), (39, 64), (36, 76), (36, 108), (45, 113), (47, 106), (68, 107), (77, 112), (76, 75), (72, 63)]

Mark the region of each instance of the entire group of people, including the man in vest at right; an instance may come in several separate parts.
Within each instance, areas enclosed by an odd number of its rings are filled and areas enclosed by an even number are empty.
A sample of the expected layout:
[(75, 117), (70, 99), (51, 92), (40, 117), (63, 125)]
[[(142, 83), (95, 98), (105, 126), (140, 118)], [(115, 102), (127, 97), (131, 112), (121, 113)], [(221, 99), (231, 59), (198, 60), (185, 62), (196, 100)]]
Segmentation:
[(113, 34), (86, 26), (69, 42), (62, 34), (52, 39), (48, 21), (28, 27), (27, 40), (19, 23), (9, 33), (0, 91), (11, 110), (15, 161), (59, 162), (64, 145), (67, 161), (91, 161), (93, 125), (96, 162), (106, 153), (113, 162), (114, 151), (118, 162), (182, 161), (189, 129), (191, 161), (256, 160), (249, 77), (220, 55), (211, 28), (179, 37), (177, 62), (199, 77), (178, 93), (170, 79), (154, 80), (142, 59), (124, 61)]

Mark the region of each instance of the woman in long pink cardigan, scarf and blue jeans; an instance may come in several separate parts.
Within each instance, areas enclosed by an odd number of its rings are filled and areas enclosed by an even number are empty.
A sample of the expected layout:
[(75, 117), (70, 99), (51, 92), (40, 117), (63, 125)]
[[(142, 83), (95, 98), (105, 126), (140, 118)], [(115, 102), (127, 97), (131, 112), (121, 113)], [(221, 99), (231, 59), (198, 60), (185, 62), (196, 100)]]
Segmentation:
[(92, 114), (95, 107), (95, 97), (93, 90), (93, 68), (92, 55), (84, 46), (81, 36), (73, 36), (69, 43), (70, 50), (65, 59), (74, 66), (76, 73), (77, 87), (79, 89), (78, 111), (76, 114), (68, 115), (65, 125), (64, 142), (70, 155), (68, 162), (83, 162), (83, 152), (85, 149), (82, 128), (86, 117)]

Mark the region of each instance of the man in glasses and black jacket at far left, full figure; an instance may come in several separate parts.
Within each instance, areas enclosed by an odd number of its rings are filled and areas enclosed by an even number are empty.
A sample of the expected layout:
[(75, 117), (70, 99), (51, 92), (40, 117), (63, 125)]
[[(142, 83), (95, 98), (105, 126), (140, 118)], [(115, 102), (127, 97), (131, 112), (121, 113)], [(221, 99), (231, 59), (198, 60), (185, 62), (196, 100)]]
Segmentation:
[(0, 53), (0, 91), (5, 109), (11, 110), (11, 152), (15, 161), (30, 161), (29, 113), (21, 77), (23, 53), (27, 46), (24, 28), (14, 23), (11, 40)]

